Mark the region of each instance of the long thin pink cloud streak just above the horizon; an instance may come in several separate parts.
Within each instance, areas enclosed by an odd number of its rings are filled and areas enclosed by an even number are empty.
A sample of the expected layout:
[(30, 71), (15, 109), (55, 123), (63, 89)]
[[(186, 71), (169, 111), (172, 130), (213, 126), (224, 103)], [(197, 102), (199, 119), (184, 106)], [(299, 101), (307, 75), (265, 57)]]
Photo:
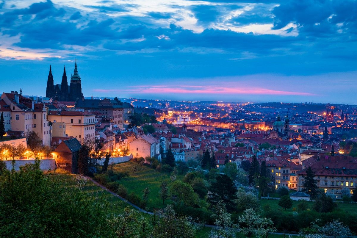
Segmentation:
[[(224, 83), (222, 83), (224, 84)], [(250, 95), (298, 95), (298, 96), (314, 96), (316, 94), (307, 92), (293, 92), (293, 91), (281, 91), (272, 90), (268, 88), (260, 87), (222, 87), (222, 86), (165, 86), (165, 85), (141, 85), (132, 86), (123, 90), (116, 89), (95, 89), (95, 92), (128, 92), (128, 93), (147, 93), (147, 94), (158, 94), (158, 93), (185, 93), (185, 94), (250, 94)]]

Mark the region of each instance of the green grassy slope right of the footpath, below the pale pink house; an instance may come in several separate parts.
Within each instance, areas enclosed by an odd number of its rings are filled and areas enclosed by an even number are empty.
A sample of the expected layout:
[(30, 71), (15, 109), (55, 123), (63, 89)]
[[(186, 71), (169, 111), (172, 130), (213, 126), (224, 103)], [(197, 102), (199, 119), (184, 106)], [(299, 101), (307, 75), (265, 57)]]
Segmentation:
[[(136, 172), (133, 172), (134, 165), (139, 166)], [(111, 169), (111, 165), (109, 166), (109, 169)], [(113, 171), (115, 173), (125, 171), (129, 172), (129, 177), (122, 178), (118, 181), (127, 188), (128, 194), (134, 192), (135, 194), (141, 197), (142, 190), (146, 187), (149, 187), (150, 193), (147, 203), (148, 211), (152, 211), (154, 208), (166, 207), (167, 204), (171, 203), (171, 201), (168, 199), (163, 205), (162, 199), (159, 196), (162, 181), (166, 182), (168, 187), (170, 188), (172, 182), (169, 173), (162, 173), (157, 171), (156, 169), (152, 169), (132, 161), (114, 164)], [(180, 179), (180, 177), (181, 176), (177, 176), (177, 179)]]

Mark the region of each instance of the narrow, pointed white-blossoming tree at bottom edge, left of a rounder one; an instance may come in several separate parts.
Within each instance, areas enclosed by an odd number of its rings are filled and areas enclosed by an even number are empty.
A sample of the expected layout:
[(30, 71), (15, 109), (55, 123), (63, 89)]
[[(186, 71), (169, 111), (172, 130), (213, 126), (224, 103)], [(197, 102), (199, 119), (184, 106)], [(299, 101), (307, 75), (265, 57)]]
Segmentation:
[(216, 226), (211, 230), (209, 238), (236, 237), (238, 226), (232, 222), (231, 214), (226, 211), (225, 204), (222, 201), (219, 201), (216, 205), (216, 214)]

